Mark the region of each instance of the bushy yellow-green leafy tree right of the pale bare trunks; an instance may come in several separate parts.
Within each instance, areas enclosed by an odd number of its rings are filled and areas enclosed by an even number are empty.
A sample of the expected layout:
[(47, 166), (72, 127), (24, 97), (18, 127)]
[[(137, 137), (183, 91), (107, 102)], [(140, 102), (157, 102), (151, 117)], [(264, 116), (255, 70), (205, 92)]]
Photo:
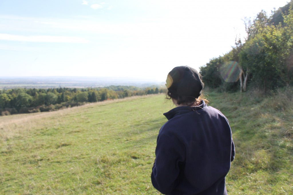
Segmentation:
[(292, 51), (290, 37), (292, 31), (286, 32), (281, 24), (267, 25), (248, 39), (240, 52), (241, 64), (251, 69), (254, 82), (261, 84), (259, 86), (262, 86), (265, 93), (284, 85), (281, 78), (282, 73), (286, 75), (285, 63)]

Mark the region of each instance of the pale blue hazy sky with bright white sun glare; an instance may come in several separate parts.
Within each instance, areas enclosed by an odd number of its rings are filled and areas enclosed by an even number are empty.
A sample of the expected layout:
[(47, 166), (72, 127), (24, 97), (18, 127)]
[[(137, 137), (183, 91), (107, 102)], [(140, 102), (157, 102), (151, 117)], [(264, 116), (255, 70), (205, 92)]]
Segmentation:
[(0, 0), (0, 77), (164, 81), (245, 36), (243, 19), (287, 0)]

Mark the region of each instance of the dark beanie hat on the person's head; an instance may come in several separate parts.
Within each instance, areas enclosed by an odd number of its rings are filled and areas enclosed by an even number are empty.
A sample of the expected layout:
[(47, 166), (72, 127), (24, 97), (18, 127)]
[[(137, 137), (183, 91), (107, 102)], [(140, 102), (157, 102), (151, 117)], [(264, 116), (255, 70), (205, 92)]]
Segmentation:
[(173, 68), (166, 79), (166, 87), (171, 96), (189, 96), (198, 98), (204, 84), (202, 76), (192, 67), (178, 66)]

